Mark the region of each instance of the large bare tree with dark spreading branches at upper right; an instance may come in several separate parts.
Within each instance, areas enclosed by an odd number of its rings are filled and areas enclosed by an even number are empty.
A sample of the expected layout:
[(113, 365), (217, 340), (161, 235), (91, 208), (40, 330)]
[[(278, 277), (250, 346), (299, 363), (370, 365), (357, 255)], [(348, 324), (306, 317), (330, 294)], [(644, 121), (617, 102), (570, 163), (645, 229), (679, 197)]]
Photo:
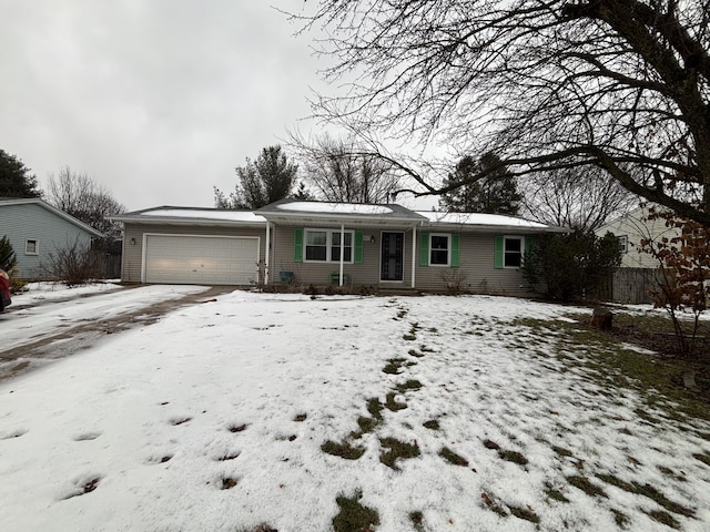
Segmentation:
[[(308, 6), (313, 6), (308, 2)], [(708, 0), (320, 0), (331, 79), (315, 112), (494, 152), (516, 175), (597, 167), (710, 225)], [(471, 181), (497, 168), (489, 167)], [(416, 192), (440, 186), (416, 168)]]

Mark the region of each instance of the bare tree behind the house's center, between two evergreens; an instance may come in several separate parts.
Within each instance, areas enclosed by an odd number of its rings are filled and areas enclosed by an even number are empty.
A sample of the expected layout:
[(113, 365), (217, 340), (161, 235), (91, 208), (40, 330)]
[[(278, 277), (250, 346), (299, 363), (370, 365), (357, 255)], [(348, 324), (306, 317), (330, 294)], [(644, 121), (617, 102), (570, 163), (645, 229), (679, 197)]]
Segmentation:
[(292, 145), (303, 161), (305, 181), (328, 202), (386, 203), (400, 187), (393, 165), (353, 139), (324, 134), (306, 141), (292, 135)]

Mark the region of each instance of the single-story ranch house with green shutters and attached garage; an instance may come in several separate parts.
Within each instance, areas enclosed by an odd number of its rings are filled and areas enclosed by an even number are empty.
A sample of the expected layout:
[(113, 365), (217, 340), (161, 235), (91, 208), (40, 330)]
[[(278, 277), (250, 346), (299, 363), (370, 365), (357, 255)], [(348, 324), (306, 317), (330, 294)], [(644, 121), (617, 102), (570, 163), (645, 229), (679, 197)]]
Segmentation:
[(456, 284), (499, 294), (529, 291), (520, 265), (530, 239), (565, 231), (510, 216), (293, 200), (256, 212), (156, 207), (112, 219), (124, 224), (125, 283)]

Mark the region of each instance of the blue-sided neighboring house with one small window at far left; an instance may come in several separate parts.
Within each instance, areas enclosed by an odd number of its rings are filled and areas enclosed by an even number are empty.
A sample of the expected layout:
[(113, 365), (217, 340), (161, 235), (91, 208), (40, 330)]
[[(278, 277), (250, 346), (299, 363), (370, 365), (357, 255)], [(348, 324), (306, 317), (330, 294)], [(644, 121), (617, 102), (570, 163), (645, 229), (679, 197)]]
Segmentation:
[(42, 267), (58, 249), (91, 245), (103, 234), (37, 197), (0, 198), (0, 236), (7, 235), (18, 259), (17, 277), (44, 278)]

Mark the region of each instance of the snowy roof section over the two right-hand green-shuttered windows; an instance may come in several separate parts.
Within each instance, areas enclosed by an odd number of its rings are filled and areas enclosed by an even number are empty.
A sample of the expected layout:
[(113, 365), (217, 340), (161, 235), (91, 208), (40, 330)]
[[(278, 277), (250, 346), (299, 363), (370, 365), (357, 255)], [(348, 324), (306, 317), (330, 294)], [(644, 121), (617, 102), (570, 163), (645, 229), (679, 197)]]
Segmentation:
[(569, 231), (565, 227), (557, 227), (503, 214), (438, 213), (434, 211), (417, 211), (417, 213), (426, 217), (429, 224), (437, 228), (496, 232), (515, 231), (516, 233), (567, 233)]

